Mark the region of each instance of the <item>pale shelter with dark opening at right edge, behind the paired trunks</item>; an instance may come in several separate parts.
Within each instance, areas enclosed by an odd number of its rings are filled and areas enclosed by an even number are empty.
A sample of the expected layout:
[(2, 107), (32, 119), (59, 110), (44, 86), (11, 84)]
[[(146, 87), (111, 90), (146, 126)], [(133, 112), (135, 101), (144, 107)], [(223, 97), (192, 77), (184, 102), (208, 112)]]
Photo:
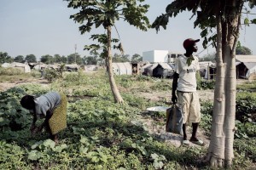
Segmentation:
[(236, 78), (256, 80), (256, 55), (236, 55)]

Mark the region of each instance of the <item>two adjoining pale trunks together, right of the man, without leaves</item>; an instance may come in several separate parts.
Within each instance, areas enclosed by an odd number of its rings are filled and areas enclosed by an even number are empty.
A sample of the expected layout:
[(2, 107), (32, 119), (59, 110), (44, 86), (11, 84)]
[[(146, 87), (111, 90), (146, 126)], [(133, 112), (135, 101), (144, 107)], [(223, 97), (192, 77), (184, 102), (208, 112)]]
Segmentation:
[[(231, 2), (231, 1), (230, 1)], [(231, 8), (230, 8), (231, 7)], [(212, 135), (207, 150), (211, 167), (230, 167), (236, 119), (236, 42), (240, 10), (232, 0), (224, 19), (217, 14), (217, 77), (214, 90)]]

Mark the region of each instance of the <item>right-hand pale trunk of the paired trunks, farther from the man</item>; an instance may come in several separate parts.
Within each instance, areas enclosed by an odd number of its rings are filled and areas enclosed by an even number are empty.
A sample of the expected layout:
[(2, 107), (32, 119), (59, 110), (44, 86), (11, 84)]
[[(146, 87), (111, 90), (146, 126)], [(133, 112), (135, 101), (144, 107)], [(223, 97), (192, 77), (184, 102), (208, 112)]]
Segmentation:
[[(232, 159), (234, 158), (233, 143), (235, 132), (236, 120), (236, 42), (239, 34), (240, 14), (236, 11), (231, 11), (233, 17), (228, 20), (228, 34), (226, 43), (225, 63), (225, 120), (224, 120), (224, 133), (225, 133), (225, 167), (230, 167)], [(236, 14), (236, 15), (234, 15)]]

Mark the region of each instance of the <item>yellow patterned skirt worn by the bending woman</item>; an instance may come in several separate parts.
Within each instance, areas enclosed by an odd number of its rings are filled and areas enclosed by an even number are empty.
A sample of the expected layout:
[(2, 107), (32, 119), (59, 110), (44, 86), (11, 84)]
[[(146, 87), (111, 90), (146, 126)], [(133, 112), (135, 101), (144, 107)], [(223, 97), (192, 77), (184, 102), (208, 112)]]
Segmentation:
[(52, 134), (59, 133), (67, 127), (67, 96), (61, 94), (61, 104), (53, 111), (49, 119), (49, 128)]

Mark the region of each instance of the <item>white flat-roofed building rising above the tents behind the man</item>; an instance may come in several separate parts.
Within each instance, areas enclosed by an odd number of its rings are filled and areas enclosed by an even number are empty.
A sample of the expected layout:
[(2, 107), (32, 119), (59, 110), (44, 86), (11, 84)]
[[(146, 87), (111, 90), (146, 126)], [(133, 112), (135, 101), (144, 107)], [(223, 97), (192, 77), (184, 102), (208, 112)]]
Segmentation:
[(143, 52), (143, 61), (150, 63), (174, 63), (182, 53), (169, 52), (168, 50), (151, 50)]

